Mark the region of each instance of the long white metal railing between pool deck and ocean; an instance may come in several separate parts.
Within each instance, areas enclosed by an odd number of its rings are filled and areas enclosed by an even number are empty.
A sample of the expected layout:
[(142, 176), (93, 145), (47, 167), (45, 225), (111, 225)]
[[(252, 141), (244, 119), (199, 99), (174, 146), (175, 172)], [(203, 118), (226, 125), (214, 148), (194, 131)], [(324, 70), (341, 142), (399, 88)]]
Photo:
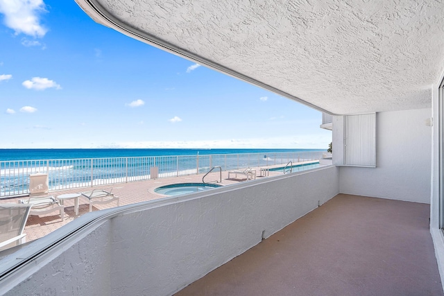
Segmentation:
[(320, 159), (323, 153), (325, 151), (6, 161), (0, 162), (0, 198), (28, 194), (29, 175), (33, 173), (47, 173), (49, 190), (53, 191), (148, 180), (152, 168), (156, 168), (157, 177), (176, 177), (206, 173), (213, 166), (230, 171), (304, 162)]

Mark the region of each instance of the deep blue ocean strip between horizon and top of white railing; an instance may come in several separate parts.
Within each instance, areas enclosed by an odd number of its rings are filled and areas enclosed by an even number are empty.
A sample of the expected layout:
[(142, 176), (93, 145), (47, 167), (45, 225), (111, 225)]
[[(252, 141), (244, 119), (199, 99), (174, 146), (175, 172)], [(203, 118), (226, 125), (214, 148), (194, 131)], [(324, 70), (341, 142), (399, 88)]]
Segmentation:
[(0, 162), (12, 160), (151, 157), (167, 155), (219, 155), (241, 153), (290, 153), (326, 149), (0, 149)]

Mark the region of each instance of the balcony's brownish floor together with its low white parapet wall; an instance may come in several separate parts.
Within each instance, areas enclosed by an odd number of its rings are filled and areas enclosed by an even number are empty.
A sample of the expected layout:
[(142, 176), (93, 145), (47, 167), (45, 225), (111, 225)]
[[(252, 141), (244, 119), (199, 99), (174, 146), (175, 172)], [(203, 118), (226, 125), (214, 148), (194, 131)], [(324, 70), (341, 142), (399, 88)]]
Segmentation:
[(429, 204), (338, 193), (328, 166), (95, 211), (3, 258), (0, 294), (442, 295)]

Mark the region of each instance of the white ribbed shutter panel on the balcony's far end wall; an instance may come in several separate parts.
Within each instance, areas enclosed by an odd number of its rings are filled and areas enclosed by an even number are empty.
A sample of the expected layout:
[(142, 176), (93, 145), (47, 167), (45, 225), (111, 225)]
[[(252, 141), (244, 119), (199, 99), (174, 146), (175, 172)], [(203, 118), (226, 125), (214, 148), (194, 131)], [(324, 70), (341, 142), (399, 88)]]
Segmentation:
[(376, 166), (376, 114), (345, 116), (346, 166)]

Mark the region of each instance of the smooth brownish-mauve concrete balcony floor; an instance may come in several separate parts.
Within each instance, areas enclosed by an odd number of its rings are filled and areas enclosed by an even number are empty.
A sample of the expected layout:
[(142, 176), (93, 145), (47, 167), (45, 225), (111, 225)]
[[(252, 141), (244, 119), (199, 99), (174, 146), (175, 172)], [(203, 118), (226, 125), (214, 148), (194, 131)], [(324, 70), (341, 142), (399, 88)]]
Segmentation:
[(176, 295), (443, 295), (429, 204), (336, 195)]

